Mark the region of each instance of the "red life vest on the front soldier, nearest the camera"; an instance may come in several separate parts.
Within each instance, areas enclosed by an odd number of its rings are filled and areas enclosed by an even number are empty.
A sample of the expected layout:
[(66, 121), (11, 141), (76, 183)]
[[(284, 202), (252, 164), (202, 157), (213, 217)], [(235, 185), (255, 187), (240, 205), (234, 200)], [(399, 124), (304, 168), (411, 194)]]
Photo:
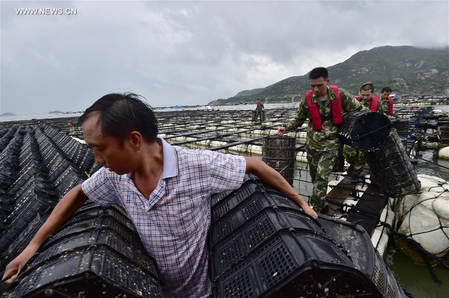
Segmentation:
[[(342, 116), (342, 104), (340, 102), (340, 93), (338, 92), (337, 86), (329, 86), (329, 88), (334, 91), (336, 98), (331, 100), (331, 119), (335, 125), (343, 123)], [(312, 120), (313, 129), (319, 131), (322, 128), (321, 115), (318, 110), (318, 104), (312, 103), (313, 91), (309, 90), (306, 92), (307, 107), (309, 108), (310, 118)]]

